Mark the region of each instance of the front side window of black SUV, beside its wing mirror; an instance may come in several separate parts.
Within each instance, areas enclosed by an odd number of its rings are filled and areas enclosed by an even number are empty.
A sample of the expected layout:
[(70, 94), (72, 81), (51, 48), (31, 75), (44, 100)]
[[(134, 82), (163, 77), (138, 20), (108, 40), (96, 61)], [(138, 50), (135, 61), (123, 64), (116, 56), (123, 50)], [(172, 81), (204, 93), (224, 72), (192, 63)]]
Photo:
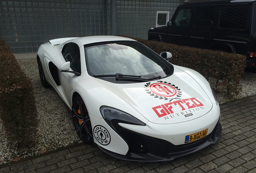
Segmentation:
[(178, 15), (174, 19), (173, 26), (189, 26), (192, 10), (189, 8), (180, 9)]

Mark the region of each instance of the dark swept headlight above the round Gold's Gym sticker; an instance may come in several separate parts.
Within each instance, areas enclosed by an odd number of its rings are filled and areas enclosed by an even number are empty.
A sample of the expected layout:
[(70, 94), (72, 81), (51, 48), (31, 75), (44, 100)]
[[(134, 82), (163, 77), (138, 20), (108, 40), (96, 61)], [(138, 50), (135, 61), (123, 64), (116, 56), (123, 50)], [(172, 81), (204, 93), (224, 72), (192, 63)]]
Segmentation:
[(133, 124), (133, 125), (145, 125), (138, 119), (132, 117), (131, 115), (120, 111), (115, 108), (102, 106), (100, 108), (101, 116), (105, 119), (106, 123), (113, 128), (112, 121), (118, 120), (120, 123)]

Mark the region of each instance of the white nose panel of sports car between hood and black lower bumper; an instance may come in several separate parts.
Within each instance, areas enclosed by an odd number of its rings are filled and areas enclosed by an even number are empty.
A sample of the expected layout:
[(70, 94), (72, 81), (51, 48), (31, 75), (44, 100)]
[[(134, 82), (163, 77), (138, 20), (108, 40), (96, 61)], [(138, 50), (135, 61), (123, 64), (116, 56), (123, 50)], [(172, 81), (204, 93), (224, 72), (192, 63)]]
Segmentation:
[[(215, 105), (215, 107), (217, 106)], [(200, 121), (194, 119), (182, 122), (182, 125), (181, 123), (160, 125), (151, 122), (148, 122), (146, 126), (129, 125), (124, 123), (119, 123), (119, 125), (137, 133), (169, 141), (173, 145), (182, 145), (184, 144), (186, 135), (191, 135), (205, 129), (208, 129), (207, 135), (210, 134), (219, 121), (219, 116), (216, 116), (219, 114), (220, 111), (216, 108), (209, 113), (209, 116), (200, 117)], [(168, 118), (169, 119), (166, 121), (171, 119), (170, 117)]]

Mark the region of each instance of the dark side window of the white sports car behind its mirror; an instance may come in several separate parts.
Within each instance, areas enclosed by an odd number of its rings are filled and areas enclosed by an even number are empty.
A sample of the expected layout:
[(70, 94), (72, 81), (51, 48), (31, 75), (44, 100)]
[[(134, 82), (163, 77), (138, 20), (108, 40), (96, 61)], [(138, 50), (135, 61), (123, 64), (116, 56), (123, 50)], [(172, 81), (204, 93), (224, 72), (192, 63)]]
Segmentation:
[(81, 72), (80, 50), (77, 44), (65, 44), (62, 49), (62, 55), (66, 62), (70, 61), (70, 68), (75, 72)]

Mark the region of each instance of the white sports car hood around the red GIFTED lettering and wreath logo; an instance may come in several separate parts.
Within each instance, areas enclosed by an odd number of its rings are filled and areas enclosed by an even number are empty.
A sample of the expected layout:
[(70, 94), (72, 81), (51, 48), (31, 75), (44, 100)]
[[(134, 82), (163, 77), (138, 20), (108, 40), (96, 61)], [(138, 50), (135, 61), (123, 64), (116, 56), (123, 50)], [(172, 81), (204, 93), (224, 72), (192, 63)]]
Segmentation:
[[(185, 75), (184, 75), (185, 74)], [(192, 119), (196, 119), (198, 117), (201, 117), (208, 113), (211, 109), (213, 104), (211, 103), (210, 99), (207, 97), (204, 90), (198, 85), (198, 83), (193, 80), (189, 75), (186, 75), (186, 73), (182, 72), (179, 69), (175, 69), (175, 72), (173, 75), (164, 78), (163, 79), (166, 82), (169, 81), (179, 81), (179, 84), (175, 84), (175, 86), (179, 87), (181, 92), (181, 97), (174, 99), (173, 101), (165, 101), (164, 99), (157, 99), (154, 96), (150, 96), (147, 91), (145, 91), (145, 84), (146, 82), (142, 83), (134, 83), (134, 84), (113, 84), (111, 82), (107, 82), (102, 80), (105, 86), (108, 86), (109, 88), (113, 89), (117, 95), (122, 97), (126, 102), (128, 102), (134, 109), (136, 109), (141, 115), (145, 115), (145, 117), (148, 121), (152, 123), (157, 124), (171, 124), (171, 123), (180, 123), (184, 121), (190, 121)], [(190, 84), (188, 84), (186, 81), (190, 81)], [(159, 83), (156, 80), (150, 81), (151, 83)], [(192, 93), (193, 95), (189, 95), (188, 93)], [(182, 108), (176, 103), (175, 101), (180, 101), (182, 99), (189, 99), (189, 98), (196, 98), (198, 101), (200, 101), (203, 104), (203, 109), (200, 109), (198, 113), (194, 116), (185, 117), (184, 115), (189, 114), (190, 112), (188, 110), (188, 107), (186, 104), (182, 104), (185, 110), (182, 110)], [(187, 103), (188, 101), (186, 101)], [(192, 101), (189, 101), (192, 104)], [(153, 107), (157, 107), (159, 105), (168, 104), (168, 103), (174, 103), (171, 106), (173, 106), (172, 114), (169, 114), (169, 116), (174, 117), (171, 121), (166, 121), (164, 117), (159, 118), (154, 110)], [(157, 108), (156, 111), (160, 113), (161, 107)], [(187, 111), (187, 112), (186, 112)], [(182, 114), (184, 113), (184, 114)], [(161, 114), (161, 113), (160, 113)], [(168, 117), (167, 115), (165, 117)], [(137, 117), (136, 117), (137, 118)]]

